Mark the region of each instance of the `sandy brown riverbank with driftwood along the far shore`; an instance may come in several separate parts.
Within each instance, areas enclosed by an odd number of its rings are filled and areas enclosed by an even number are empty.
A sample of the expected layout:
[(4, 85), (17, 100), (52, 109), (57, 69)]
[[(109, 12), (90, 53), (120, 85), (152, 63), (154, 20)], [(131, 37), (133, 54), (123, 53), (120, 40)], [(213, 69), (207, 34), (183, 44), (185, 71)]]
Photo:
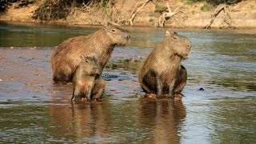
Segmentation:
[[(181, 0), (165, 2), (120, 0), (98, 10), (94, 6), (86, 5), (80, 9), (74, 8), (65, 18), (53, 20), (33, 18), (40, 5), (42, 4), (30, 4), (21, 8), (10, 6), (8, 10), (0, 13), (0, 21), (96, 26), (114, 22), (121, 26), (206, 28), (210, 25), (209, 28), (256, 28), (255, 0), (246, 0), (223, 7), (210, 6), (206, 2), (189, 3)], [(216, 18), (213, 17), (214, 14), (217, 14)]]

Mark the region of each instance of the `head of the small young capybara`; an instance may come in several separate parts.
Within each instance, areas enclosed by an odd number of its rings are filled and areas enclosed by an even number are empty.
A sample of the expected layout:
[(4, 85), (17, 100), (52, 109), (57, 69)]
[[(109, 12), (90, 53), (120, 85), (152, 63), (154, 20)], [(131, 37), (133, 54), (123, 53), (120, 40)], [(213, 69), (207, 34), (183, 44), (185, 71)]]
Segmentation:
[(86, 57), (85, 55), (81, 55), (81, 62), (79, 64), (80, 68), (82, 68), (82, 71), (85, 71), (87, 73), (88, 71), (92, 71), (94, 74), (98, 74), (98, 62), (95, 58)]

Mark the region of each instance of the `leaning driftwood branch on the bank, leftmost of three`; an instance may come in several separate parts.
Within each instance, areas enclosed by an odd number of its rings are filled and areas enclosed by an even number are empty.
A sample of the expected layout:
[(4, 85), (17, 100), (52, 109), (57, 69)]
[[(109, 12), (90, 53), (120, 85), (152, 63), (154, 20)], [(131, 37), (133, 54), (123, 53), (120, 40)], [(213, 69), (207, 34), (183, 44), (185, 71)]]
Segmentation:
[(146, 0), (146, 1), (143, 1), (143, 2), (137, 2), (136, 3), (136, 6), (134, 7), (134, 10), (131, 12), (130, 14), (130, 18), (128, 20), (122, 20), (124, 22), (126, 22), (126, 26), (133, 26), (133, 21), (134, 21), (134, 18), (136, 17), (136, 14), (138, 14), (138, 12), (140, 10), (142, 10), (142, 8), (144, 6), (146, 6), (147, 2), (150, 2), (152, 0)]

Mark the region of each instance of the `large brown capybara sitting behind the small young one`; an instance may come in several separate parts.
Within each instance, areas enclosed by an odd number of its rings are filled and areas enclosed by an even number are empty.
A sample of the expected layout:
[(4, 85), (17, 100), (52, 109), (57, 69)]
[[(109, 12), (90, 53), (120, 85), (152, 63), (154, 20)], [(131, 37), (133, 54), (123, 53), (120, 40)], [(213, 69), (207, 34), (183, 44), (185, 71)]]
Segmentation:
[(69, 38), (62, 42), (51, 57), (54, 82), (72, 82), (79, 56), (94, 57), (99, 63), (99, 74), (110, 60), (114, 46), (125, 46), (130, 34), (111, 24), (103, 26), (94, 34)]

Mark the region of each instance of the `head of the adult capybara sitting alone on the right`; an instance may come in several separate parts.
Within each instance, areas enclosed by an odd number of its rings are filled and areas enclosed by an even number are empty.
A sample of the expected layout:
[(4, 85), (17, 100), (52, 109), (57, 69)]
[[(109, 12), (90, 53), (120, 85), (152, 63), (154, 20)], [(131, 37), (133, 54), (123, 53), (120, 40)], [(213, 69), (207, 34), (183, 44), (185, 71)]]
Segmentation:
[(163, 42), (168, 49), (172, 50), (174, 54), (182, 59), (187, 59), (190, 56), (192, 43), (188, 38), (176, 32), (171, 34), (169, 31), (166, 31), (166, 39)]

